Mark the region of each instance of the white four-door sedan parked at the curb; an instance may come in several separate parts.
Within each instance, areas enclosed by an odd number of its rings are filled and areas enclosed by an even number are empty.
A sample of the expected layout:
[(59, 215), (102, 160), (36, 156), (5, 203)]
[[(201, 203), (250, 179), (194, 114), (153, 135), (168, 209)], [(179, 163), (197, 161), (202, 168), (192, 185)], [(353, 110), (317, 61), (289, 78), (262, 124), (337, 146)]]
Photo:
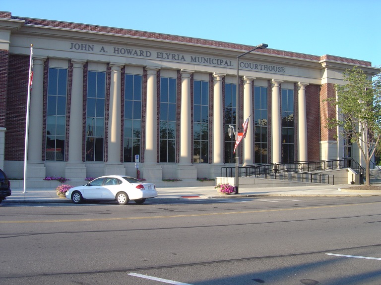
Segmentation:
[(157, 191), (152, 183), (143, 183), (128, 176), (107, 175), (98, 177), (86, 185), (73, 187), (65, 195), (76, 204), (81, 203), (83, 199), (89, 199), (116, 200), (120, 205), (126, 205), (129, 200), (142, 204), (146, 198), (156, 197)]

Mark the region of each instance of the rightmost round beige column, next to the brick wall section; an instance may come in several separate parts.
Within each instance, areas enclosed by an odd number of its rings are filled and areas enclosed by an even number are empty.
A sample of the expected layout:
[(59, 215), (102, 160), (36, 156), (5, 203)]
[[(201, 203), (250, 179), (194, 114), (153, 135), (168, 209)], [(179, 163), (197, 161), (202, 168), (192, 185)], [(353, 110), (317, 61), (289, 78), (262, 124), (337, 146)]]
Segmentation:
[(298, 161), (308, 161), (307, 156), (307, 113), (306, 86), (308, 83), (299, 82), (298, 86)]

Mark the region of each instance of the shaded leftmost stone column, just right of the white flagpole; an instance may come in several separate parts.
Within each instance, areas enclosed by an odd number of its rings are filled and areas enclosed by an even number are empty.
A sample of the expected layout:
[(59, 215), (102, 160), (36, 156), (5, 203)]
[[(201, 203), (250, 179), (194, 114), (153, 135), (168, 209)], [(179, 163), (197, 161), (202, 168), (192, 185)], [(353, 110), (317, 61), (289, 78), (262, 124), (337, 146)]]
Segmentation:
[(43, 97), (44, 97), (44, 62), (46, 58), (33, 58), (33, 86), (29, 106), (29, 132), (28, 132), (28, 172), (27, 177), (44, 179), (45, 165), (42, 161), (42, 133)]

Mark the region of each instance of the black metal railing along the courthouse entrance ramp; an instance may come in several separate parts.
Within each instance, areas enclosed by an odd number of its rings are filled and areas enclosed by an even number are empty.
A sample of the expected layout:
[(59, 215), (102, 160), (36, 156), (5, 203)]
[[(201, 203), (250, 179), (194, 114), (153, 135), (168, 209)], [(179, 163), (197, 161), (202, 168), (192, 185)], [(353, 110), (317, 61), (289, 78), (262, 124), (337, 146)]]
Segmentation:
[[(312, 162), (288, 162), (256, 164), (238, 167), (239, 177), (261, 177), (322, 184), (334, 184), (333, 174), (314, 173), (329, 169), (351, 168), (358, 174), (365, 175), (365, 168), (353, 158), (341, 158)], [(235, 167), (222, 167), (222, 177), (235, 177)]]

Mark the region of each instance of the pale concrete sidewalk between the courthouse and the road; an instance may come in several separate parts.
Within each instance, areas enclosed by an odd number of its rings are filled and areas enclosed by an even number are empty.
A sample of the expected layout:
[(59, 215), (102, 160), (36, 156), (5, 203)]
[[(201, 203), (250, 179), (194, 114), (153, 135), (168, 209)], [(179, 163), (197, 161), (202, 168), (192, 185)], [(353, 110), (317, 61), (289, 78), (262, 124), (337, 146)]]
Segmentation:
[[(155, 200), (209, 199), (209, 198), (244, 198), (256, 196), (381, 196), (381, 191), (349, 190), (350, 185), (314, 185), (302, 187), (278, 188), (241, 188), (239, 194), (224, 195), (214, 187), (167, 187), (157, 188), (159, 195)], [(5, 203), (67, 203), (69, 199), (59, 198), (55, 189), (12, 188), (12, 195), (2, 201)]]

